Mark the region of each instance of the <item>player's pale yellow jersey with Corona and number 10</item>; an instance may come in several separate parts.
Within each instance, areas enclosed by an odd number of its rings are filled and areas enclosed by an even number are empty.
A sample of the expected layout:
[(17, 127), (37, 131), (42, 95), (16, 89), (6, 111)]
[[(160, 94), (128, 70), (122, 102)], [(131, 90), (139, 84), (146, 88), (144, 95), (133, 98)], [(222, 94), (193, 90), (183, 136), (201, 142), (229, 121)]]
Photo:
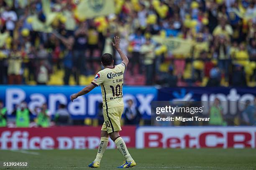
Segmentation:
[(121, 62), (113, 67), (99, 71), (92, 84), (100, 85), (103, 99), (103, 109), (123, 106), (123, 74), (125, 64)]

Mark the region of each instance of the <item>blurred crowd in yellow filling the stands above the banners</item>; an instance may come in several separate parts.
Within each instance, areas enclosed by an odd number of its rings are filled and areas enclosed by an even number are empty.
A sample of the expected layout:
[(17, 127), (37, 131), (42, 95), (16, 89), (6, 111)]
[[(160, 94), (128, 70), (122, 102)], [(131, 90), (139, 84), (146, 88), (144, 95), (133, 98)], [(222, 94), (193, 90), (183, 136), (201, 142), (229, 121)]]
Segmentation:
[(0, 84), (87, 85), (119, 35), (126, 85), (256, 85), (254, 0), (115, 0), (90, 19), (80, 3), (0, 0)]

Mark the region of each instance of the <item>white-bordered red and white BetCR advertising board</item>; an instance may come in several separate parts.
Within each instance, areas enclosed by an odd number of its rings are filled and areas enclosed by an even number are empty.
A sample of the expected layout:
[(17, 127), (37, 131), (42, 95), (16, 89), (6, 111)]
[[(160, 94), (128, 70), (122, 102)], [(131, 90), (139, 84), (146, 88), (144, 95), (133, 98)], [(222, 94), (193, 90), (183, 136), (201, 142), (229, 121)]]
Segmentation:
[(255, 148), (255, 127), (139, 127), (136, 148)]

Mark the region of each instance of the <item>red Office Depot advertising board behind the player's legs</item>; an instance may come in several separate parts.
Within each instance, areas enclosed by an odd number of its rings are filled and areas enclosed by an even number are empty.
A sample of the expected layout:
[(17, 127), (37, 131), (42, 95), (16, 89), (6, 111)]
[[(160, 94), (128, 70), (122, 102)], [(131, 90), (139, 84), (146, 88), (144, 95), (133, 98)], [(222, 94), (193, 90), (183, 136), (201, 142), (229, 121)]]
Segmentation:
[[(127, 147), (134, 148), (136, 127), (122, 129), (120, 135)], [(0, 150), (95, 149), (99, 143), (100, 127), (0, 128)], [(109, 140), (108, 148), (115, 148), (112, 140)]]

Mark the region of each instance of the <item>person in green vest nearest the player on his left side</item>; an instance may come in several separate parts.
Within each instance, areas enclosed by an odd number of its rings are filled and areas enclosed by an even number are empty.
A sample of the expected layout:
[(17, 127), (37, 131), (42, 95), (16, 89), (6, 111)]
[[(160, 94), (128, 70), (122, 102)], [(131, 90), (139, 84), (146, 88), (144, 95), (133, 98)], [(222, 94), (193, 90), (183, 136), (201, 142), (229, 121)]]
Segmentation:
[(44, 128), (50, 126), (49, 111), (47, 110), (46, 103), (42, 105), (41, 112), (37, 116), (37, 125)]

